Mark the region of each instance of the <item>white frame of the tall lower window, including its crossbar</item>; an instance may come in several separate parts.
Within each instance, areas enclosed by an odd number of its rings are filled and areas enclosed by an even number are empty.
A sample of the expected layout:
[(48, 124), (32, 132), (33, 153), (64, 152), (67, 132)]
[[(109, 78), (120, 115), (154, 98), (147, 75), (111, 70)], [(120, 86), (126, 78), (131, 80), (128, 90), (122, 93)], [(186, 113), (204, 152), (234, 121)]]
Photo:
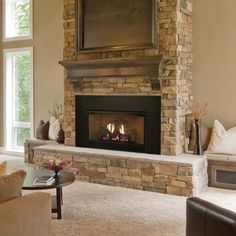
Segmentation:
[[(30, 122), (14, 122), (13, 124), (13, 118), (11, 118), (11, 127), (7, 127), (7, 119), (8, 119), (8, 115), (9, 112), (11, 114), (14, 114), (14, 112), (9, 111), (9, 107), (7, 107), (7, 101), (6, 99), (9, 99), (6, 97), (6, 92), (7, 92), (7, 53), (14, 53), (14, 52), (23, 52), (23, 51), (29, 51), (30, 56), (31, 56), (31, 60), (30, 60)], [(4, 152), (6, 153), (23, 153), (23, 148), (13, 148), (13, 149), (9, 149), (8, 143), (12, 143), (11, 138), (16, 138), (16, 135), (14, 135), (14, 131), (13, 129), (15, 128), (30, 128), (30, 134), (31, 137), (34, 136), (34, 109), (33, 109), (33, 104), (34, 104), (34, 79), (33, 79), (33, 47), (21, 47), (21, 48), (11, 48), (11, 49), (4, 49), (3, 50), (3, 85), (4, 85), (4, 91), (3, 91), (3, 101), (4, 101)], [(13, 92), (12, 92), (13, 95)], [(12, 99), (13, 96), (11, 96), (10, 99)], [(13, 101), (11, 101), (11, 103), (13, 104)], [(13, 104), (14, 107), (14, 104)], [(11, 129), (12, 128), (12, 134), (10, 135), (11, 137), (8, 137), (7, 135), (7, 129)], [(14, 141), (14, 143), (16, 143), (16, 140)]]

